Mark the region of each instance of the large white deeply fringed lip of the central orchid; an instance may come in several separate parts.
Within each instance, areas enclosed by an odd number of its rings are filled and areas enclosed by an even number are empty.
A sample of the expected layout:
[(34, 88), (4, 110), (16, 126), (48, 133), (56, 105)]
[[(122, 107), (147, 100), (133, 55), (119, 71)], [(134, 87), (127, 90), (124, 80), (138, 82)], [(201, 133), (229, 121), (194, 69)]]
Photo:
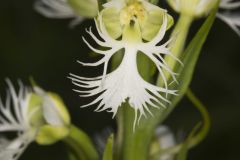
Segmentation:
[[(168, 82), (164, 76), (163, 70), (166, 70), (172, 75), (172, 78), (177, 82), (176, 73), (174, 73), (171, 68), (164, 61), (164, 56), (171, 56), (173, 59), (178, 60), (167, 48), (167, 41), (163, 45), (159, 45), (161, 40), (163, 39), (166, 28), (167, 28), (167, 17), (164, 15), (163, 25), (159, 30), (159, 33), (156, 37), (150, 42), (136, 42), (136, 44), (129, 45), (127, 40), (117, 41), (112, 39), (102, 22), (101, 15), (99, 15), (99, 23), (96, 22), (97, 31), (99, 32), (102, 40), (98, 39), (95, 36), (91, 29), (87, 32), (102, 47), (108, 47), (110, 49), (98, 50), (92, 47), (85, 39), (85, 43), (89, 46), (93, 51), (104, 55), (102, 59), (95, 63), (82, 63), (83, 65), (88, 66), (97, 66), (100, 64), (104, 64), (103, 75), (99, 77), (93, 78), (84, 78), (80, 76), (76, 76), (74, 74), (70, 74), (69, 78), (72, 80), (72, 83), (79, 87), (80, 89), (74, 89), (80, 96), (89, 97), (96, 96), (98, 97), (86, 104), (82, 107), (88, 107), (91, 105), (97, 105), (95, 111), (108, 111), (113, 113), (113, 117), (116, 115), (118, 108), (122, 103), (128, 100), (131, 107), (135, 110), (135, 121), (134, 128), (136, 123), (139, 123), (141, 118), (147, 117), (147, 113), (153, 115), (150, 107), (153, 108), (165, 108), (166, 104), (171, 103), (165, 94), (177, 95), (176, 90), (168, 89)], [(121, 48), (124, 48), (124, 56), (122, 62), (118, 66), (118, 68), (107, 74), (107, 66), (110, 58)], [(143, 52), (146, 56), (148, 56), (156, 65), (159, 70), (161, 77), (165, 82), (165, 87), (154, 86), (148, 82), (146, 82), (139, 74), (137, 69), (137, 54), (138, 51)], [(181, 63), (182, 64), (182, 63)]]

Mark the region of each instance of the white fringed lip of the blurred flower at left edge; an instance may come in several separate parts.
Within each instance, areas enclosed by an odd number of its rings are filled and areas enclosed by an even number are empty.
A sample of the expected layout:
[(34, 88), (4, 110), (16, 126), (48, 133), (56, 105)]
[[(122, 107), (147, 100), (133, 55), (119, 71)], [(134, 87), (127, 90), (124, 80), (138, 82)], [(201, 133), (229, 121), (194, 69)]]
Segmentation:
[[(13, 85), (7, 80), (9, 90), (6, 102), (0, 100), (0, 133), (16, 132), (17, 138), (0, 141), (0, 158), (16, 160), (23, 153), (29, 143), (34, 140), (36, 130), (32, 129), (30, 119), (37, 110), (28, 113), (30, 91), (20, 83), (18, 94)], [(38, 107), (36, 107), (37, 109)]]

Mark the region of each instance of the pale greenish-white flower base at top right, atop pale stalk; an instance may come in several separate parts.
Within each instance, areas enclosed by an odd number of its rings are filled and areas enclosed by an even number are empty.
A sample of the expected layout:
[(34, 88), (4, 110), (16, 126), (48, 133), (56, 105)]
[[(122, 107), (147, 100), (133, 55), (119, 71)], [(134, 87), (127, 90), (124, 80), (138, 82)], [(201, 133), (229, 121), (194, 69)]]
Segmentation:
[(207, 15), (218, 0), (167, 0), (178, 13), (199, 18)]

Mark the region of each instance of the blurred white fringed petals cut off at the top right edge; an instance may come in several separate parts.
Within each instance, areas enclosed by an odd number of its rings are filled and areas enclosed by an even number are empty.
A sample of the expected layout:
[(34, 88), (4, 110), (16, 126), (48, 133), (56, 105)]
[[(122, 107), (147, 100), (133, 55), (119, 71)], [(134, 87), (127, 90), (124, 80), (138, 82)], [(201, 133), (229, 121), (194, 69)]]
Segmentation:
[(228, 24), (237, 34), (240, 36), (240, 13), (230, 13), (230, 10), (236, 10), (240, 8), (240, 1), (236, 2), (233, 0), (222, 0), (220, 3), (220, 11), (217, 14), (217, 17), (223, 22)]

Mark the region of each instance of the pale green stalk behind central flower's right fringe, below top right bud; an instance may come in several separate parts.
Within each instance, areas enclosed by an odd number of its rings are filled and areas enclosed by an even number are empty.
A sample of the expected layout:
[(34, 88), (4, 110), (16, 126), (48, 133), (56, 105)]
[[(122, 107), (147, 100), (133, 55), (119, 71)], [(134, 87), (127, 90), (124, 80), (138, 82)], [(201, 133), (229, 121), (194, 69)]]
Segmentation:
[[(180, 18), (178, 19), (178, 22), (172, 32), (172, 36), (171, 36), (172, 42), (170, 43), (169, 46), (171, 48), (172, 54), (179, 59), (181, 59), (183, 56), (181, 54), (185, 47), (187, 35), (189, 32), (189, 28), (192, 24), (192, 21), (193, 21), (193, 18), (191, 16), (184, 15), (184, 14), (180, 15)], [(166, 56), (164, 60), (173, 71), (179, 64), (179, 62), (177, 62), (171, 56)], [(167, 81), (169, 81), (171, 79), (171, 74), (165, 70), (163, 70), (163, 72)], [(164, 81), (161, 76), (158, 76), (157, 85), (158, 86), (164, 85)]]

